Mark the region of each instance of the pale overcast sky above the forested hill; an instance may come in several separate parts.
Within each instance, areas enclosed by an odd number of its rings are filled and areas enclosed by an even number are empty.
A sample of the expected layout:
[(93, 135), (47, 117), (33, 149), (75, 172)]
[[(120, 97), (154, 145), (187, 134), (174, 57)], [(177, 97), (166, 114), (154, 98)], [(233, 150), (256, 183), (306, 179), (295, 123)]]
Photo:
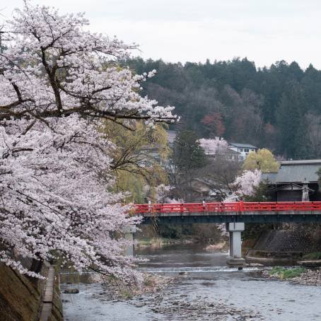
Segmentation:
[[(91, 30), (136, 42), (144, 58), (205, 62), (284, 59), (321, 69), (320, 0), (34, 0), (62, 13), (86, 11)], [(9, 18), (22, 0), (1, 0)]]

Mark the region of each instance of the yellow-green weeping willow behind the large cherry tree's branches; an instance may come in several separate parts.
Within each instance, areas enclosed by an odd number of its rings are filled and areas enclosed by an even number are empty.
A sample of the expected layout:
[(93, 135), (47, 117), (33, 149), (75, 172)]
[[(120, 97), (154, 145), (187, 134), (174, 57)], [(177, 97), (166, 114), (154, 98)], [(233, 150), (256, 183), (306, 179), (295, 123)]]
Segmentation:
[(161, 163), (170, 153), (165, 125), (147, 127), (143, 122), (118, 124), (105, 122), (101, 127), (107, 139), (115, 143), (112, 169), (115, 190), (129, 192), (128, 201), (144, 203), (144, 187), (167, 182)]

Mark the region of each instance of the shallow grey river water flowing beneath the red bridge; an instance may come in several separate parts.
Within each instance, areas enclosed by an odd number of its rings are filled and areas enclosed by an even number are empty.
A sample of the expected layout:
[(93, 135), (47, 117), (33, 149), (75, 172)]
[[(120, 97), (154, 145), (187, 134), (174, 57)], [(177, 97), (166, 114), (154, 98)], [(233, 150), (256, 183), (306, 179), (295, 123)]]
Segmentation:
[(321, 320), (320, 287), (272, 281), (255, 268), (229, 269), (226, 254), (202, 245), (145, 248), (136, 255), (149, 259), (140, 269), (173, 276), (173, 284), (120, 301), (104, 298), (102, 284), (78, 284), (80, 293), (62, 294), (65, 320)]

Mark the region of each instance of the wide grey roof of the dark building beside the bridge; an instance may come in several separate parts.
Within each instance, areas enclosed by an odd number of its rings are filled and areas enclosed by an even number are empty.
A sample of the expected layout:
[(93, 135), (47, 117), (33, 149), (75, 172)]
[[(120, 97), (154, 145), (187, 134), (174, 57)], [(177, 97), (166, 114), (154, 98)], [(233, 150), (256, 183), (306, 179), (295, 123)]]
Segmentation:
[(264, 173), (262, 180), (267, 179), (272, 184), (286, 182), (317, 182), (317, 170), (321, 168), (321, 160), (302, 160), (281, 162), (278, 173)]

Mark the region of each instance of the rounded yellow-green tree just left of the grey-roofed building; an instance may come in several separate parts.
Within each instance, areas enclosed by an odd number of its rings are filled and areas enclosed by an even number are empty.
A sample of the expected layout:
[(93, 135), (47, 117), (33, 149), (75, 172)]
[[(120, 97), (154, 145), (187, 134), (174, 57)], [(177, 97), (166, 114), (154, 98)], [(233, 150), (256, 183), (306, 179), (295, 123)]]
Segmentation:
[(277, 173), (280, 164), (267, 148), (251, 151), (245, 158), (243, 170), (261, 170), (262, 173)]

